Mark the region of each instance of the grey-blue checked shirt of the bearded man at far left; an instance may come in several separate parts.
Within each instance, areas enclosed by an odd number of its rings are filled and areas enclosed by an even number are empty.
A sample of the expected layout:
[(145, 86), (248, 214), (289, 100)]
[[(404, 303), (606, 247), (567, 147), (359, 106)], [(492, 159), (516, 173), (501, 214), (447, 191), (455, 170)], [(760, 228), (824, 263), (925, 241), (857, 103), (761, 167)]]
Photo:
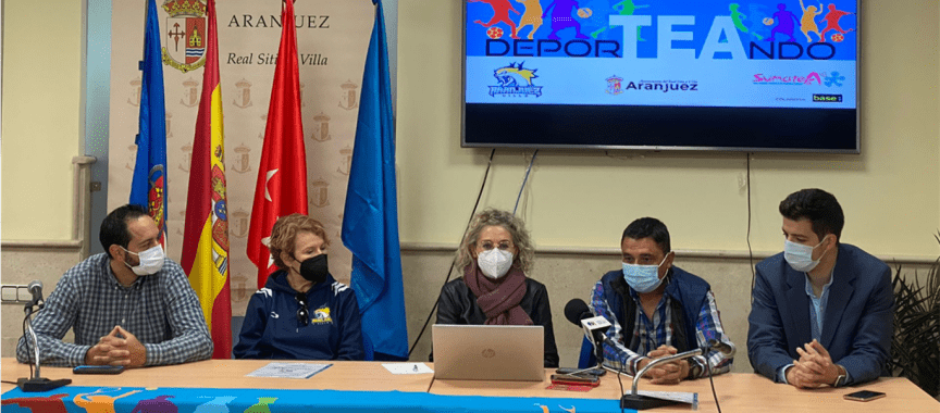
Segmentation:
[[(85, 353), (120, 325), (147, 350), (145, 365), (178, 364), (212, 355), (212, 339), (202, 308), (183, 267), (170, 259), (157, 274), (123, 287), (100, 253), (78, 263), (59, 280), (46, 306), (33, 321), (45, 365), (85, 364)], [(62, 338), (72, 328), (75, 343)], [(16, 360), (33, 360), (32, 342), (16, 346)]]

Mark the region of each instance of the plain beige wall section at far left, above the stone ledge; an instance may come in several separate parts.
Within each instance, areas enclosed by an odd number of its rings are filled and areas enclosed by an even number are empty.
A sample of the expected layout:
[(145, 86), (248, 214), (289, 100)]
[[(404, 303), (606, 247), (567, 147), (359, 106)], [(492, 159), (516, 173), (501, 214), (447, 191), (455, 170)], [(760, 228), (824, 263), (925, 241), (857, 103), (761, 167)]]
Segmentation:
[(3, 240), (72, 235), (81, 153), (82, 2), (3, 1)]

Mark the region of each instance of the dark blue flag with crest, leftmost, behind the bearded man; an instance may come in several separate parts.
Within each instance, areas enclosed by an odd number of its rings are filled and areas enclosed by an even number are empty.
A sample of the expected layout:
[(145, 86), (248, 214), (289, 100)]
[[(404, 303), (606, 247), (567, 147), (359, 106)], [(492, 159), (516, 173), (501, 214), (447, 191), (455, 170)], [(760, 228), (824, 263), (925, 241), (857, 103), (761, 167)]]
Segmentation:
[[(147, 5), (147, 33), (140, 62), (140, 121), (137, 161), (131, 185), (132, 204), (147, 209), (160, 228), (160, 243), (166, 234), (166, 108), (163, 101), (163, 66), (160, 57), (160, 24), (157, 3)], [(165, 243), (164, 243), (165, 247)]]

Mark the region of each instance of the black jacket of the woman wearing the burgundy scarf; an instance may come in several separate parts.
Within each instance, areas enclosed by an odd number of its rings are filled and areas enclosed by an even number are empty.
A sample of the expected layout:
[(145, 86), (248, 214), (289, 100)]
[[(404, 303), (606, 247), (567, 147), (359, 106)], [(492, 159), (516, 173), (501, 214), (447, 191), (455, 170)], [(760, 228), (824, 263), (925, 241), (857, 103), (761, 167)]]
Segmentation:
[[(555, 347), (555, 330), (552, 327), (552, 306), (548, 304), (548, 290), (545, 285), (525, 278), (525, 296), (519, 306), (529, 314), (532, 323), (545, 329), (545, 367), (558, 367), (558, 349)], [(486, 314), (477, 304), (477, 296), (463, 283), (463, 277), (444, 285), (437, 299), (437, 322), (435, 324), (482, 325)], [(434, 361), (434, 354), (431, 354)]]

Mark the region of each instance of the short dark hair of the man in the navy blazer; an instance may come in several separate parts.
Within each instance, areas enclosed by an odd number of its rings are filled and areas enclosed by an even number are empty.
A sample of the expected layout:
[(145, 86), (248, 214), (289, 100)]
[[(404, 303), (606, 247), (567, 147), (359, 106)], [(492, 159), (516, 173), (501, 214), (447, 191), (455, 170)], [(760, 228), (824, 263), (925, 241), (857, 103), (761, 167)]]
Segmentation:
[(842, 238), (842, 226), (845, 225), (842, 206), (832, 193), (822, 189), (801, 189), (790, 193), (780, 201), (780, 215), (793, 221), (809, 220), (819, 240), (827, 234), (834, 234), (837, 241)]

